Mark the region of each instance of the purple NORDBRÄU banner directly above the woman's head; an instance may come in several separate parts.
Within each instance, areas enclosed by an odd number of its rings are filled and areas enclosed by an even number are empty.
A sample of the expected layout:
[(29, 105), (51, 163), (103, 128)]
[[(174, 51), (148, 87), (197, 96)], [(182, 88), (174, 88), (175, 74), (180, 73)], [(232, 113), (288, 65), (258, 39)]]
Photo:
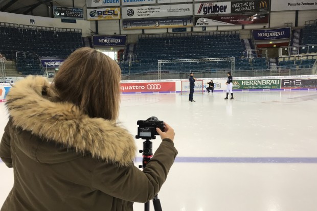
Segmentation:
[(127, 36), (93, 36), (94, 46), (124, 46)]

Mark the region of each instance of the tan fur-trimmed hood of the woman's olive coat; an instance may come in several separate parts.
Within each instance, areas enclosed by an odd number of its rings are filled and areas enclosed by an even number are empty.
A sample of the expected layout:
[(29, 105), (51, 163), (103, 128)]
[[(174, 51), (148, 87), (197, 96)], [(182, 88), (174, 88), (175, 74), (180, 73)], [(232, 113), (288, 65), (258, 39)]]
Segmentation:
[(76, 152), (129, 166), (135, 157), (135, 142), (114, 121), (90, 118), (71, 103), (52, 102), (56, 97), (43, 77), (17, 81), (6, 97), (14, 126), (31, 131), (43, 142), (53, 140)]

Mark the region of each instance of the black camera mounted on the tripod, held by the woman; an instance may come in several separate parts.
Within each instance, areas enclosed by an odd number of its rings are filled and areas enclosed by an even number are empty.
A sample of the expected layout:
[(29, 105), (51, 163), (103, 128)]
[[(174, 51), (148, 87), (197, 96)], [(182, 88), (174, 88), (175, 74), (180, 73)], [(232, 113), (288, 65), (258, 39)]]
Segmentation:
[(159, 121), (155, 116), (151, 116), (147, 120), (138, 120), (138, 135), (135, 135), (135, 138), (142, 139), (155, 139), (155, 135), (159, 135), (156, 132), (156, 128), (160, 128), (164, 131), (164, 122)]

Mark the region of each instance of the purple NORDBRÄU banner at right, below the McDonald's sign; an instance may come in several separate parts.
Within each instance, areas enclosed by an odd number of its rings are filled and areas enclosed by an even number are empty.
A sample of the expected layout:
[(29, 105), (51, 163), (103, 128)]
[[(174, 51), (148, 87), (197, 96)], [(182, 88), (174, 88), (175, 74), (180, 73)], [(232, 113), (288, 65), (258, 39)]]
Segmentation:
[(290, 27), (279, 29), (252, 30), (255, 40), (289, 39)]

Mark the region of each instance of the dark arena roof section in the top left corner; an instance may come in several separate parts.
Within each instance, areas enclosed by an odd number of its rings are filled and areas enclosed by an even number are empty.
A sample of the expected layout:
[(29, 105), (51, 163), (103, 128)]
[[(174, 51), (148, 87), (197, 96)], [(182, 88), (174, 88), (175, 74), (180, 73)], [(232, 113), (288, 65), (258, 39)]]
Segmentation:
[(83, 8), (86, 0), (0, 0), (0, 11), (17, 14), (29, 14), (39, 6), (50, 4), (63, 7)]

